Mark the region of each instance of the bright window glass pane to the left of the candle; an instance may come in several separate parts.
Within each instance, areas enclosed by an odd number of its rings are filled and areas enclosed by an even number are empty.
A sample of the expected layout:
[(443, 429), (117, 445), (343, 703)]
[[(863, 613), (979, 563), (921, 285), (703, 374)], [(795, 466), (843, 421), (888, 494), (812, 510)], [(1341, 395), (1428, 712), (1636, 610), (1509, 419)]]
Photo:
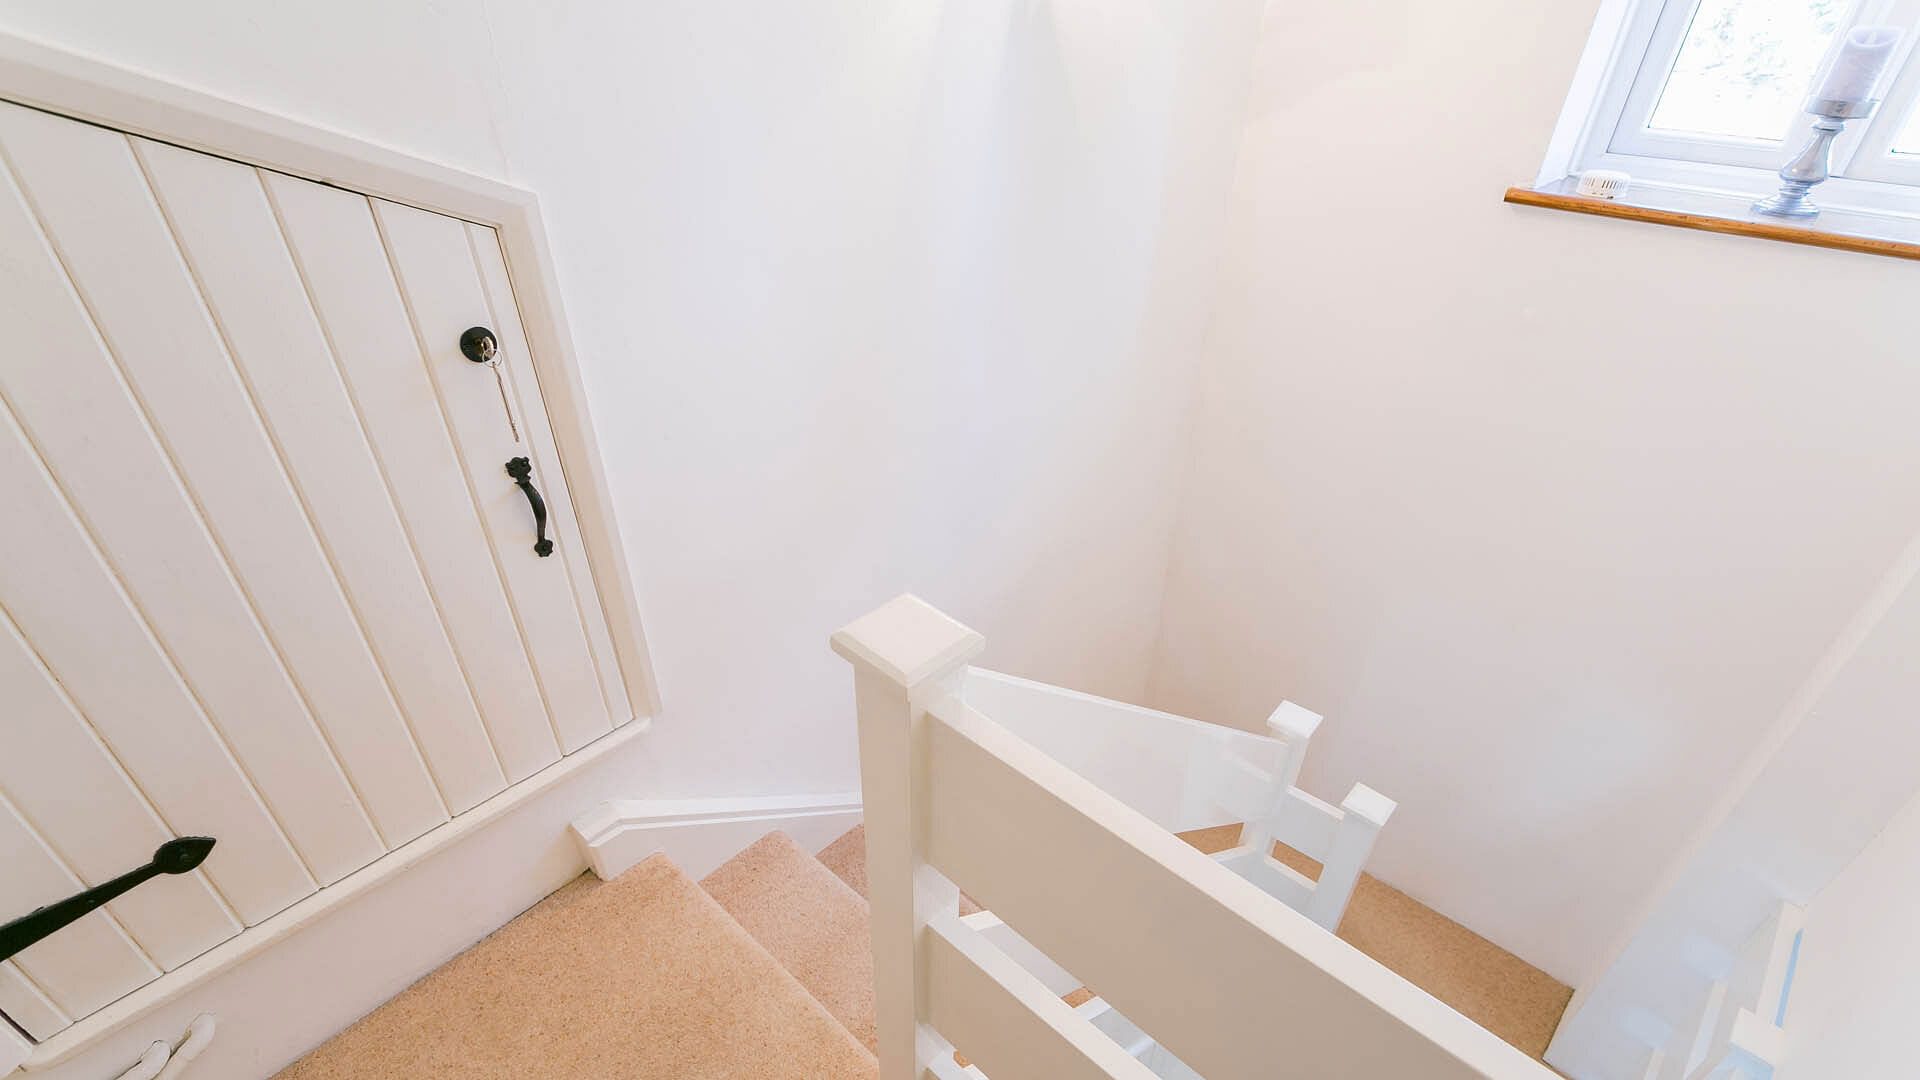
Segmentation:
[(1847, 0), (1701, 0), (1647, 127), (1782, 140), (1845, 13)]

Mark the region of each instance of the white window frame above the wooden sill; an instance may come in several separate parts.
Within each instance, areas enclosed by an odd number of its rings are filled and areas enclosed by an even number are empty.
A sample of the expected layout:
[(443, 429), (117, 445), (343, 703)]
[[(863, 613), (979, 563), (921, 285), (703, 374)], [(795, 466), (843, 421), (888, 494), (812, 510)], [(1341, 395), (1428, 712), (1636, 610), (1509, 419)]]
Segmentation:
[[(1542, 183), (1584, 169), (1620, 169), (1636, 186), (1743, 198), (1778, 188), (1780, 165), (1801, 148), (1812, 123), (1805, 113), (1797, 113), (1778, 140), (1649, 127), (1699, 4), (1603, 4), (1582, 79), (1561, 117), (1559, 152), (1549, 156)], [(1816, 200), (1836, 209), (1920, 219), (1920, 154), (1891, 152), (1908, 117), (1920, 110), (1920, 52), (1914, 48), (1920, 44), (1920, 0), (1899, 0), (1893, 19), (1908, 27), (1897, 77), (1874, 117), (1849, 123), (1836, 140), (1834, 179), (1818, 188)], [(1569, 123), (1576, 123), (1576, 131)]]

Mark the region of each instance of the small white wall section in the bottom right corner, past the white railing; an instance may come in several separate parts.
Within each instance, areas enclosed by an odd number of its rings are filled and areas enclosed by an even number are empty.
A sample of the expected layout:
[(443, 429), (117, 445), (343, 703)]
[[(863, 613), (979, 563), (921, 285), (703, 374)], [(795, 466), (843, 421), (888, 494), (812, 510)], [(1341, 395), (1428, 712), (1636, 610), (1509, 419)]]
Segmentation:
[(1912, 1076), (1920, 1013), (1920, 798), (1807, 909), (1780, 1080)]

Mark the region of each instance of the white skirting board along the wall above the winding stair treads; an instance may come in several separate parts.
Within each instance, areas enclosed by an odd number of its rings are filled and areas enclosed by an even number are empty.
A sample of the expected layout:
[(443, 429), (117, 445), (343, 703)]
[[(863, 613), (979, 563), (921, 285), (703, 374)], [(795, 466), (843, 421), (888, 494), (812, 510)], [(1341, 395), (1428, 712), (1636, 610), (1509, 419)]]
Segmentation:
[(611, 799), (574, 819), (572, 834), (601, 880), (664, 851), (703, 878), (741, 847), (774, 832), (818, 851), (860, 824), (860, 792), (739, 799)]

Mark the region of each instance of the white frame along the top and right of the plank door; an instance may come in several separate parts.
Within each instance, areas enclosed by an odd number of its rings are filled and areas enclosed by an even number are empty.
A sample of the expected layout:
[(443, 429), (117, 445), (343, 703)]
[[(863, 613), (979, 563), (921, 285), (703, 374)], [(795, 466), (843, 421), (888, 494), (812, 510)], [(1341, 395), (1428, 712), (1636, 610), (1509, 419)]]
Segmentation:
[(660, 711), (534, 192), (8, 33), (0, 33), (0, 98), (493, 229), (507, 254), (622, 682), (637, 715)]

